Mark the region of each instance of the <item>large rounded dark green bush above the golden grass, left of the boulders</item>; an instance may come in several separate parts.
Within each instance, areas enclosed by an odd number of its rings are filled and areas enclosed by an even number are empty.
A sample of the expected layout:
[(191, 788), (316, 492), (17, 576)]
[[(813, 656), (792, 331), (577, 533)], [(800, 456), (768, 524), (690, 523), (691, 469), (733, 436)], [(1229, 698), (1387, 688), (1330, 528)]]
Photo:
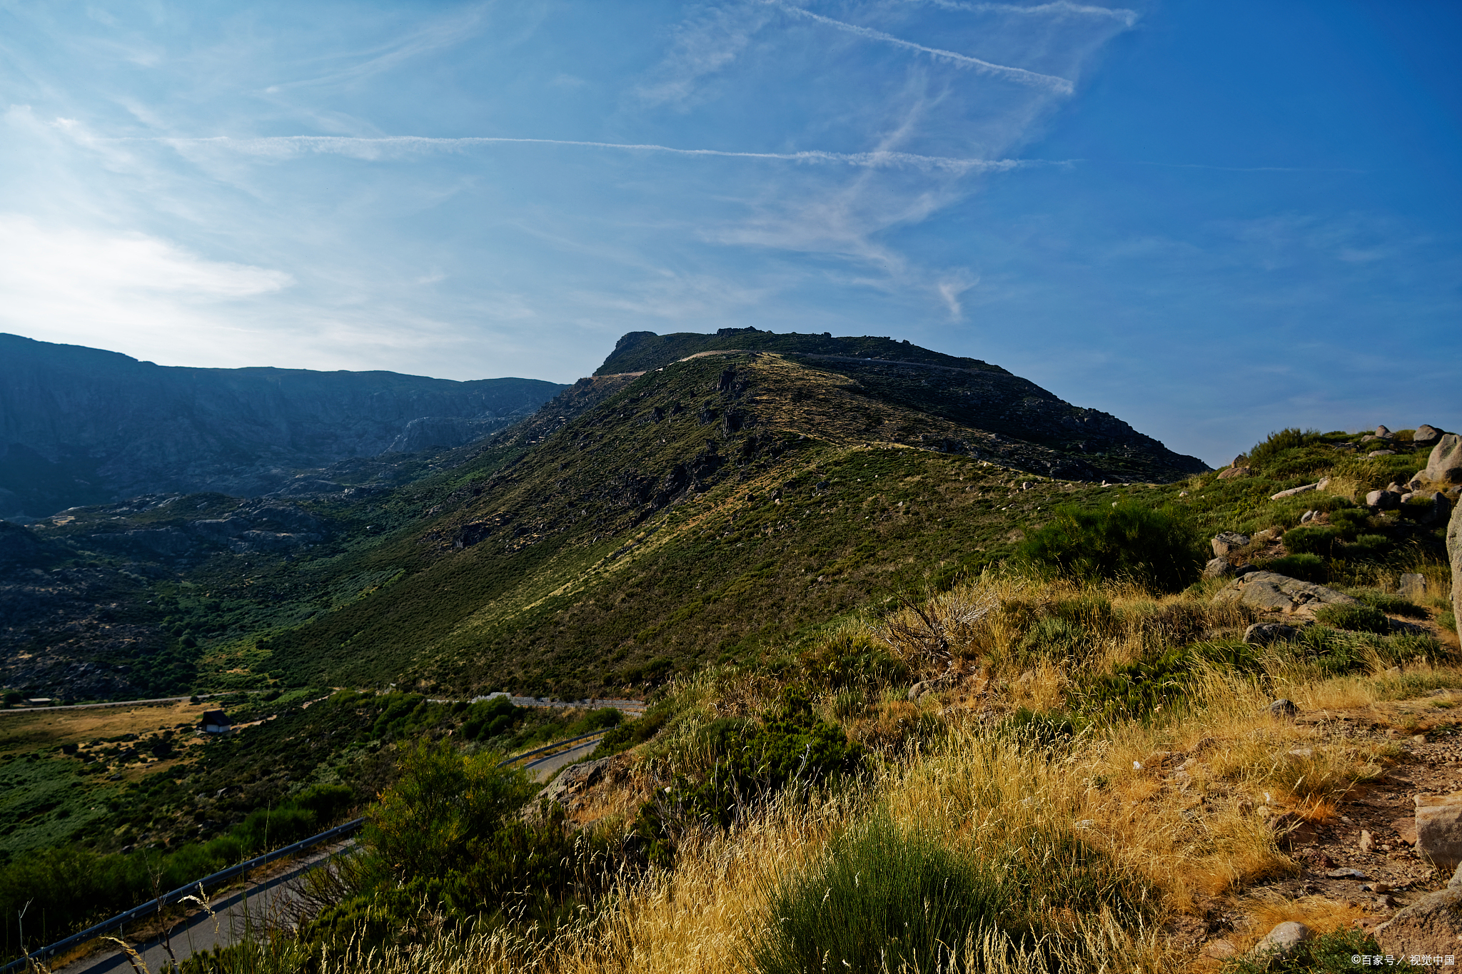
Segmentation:
[(1098, 511), (1057, 508), (1016, 553), (1047, 574), (1080, 581), (1133, 578), (1161, 591), (1192, 584), (1205, 561), (1184, 513), (1135, 504)]

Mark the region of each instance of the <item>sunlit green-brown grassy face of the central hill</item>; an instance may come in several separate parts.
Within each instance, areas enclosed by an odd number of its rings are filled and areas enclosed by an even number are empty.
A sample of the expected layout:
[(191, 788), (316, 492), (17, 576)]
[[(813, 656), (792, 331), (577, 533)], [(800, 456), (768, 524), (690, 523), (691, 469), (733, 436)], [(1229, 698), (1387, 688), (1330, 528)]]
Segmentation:
[[(1013, 475), (911, 448), (974, 435), (816, 362), (718, 355), (648, 372), (377, 549), (368, 564), (406, 572), (389, 597), (272, 640), (270, 666), (304, 682), (577, 694), (662, 657), (776, 651), (1009, 551)], [(485, 537), (456, 551), (466, 534)]]

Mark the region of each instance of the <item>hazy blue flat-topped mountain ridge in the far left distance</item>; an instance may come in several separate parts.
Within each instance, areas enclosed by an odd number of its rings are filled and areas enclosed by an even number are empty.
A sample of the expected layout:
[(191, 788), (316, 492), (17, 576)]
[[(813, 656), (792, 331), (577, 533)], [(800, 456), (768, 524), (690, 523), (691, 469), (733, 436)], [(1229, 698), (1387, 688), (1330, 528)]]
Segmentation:
[(563, 386), (173, 368), (0, 334), (0, 517), (143, 492), (269, 494), (298, 469), (458, 447)]

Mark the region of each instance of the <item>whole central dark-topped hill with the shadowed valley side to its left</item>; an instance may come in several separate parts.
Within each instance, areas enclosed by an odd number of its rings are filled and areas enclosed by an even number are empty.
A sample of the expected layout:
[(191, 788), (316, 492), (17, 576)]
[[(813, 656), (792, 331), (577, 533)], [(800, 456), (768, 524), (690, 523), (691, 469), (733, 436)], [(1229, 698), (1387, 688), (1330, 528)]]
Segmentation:
[[(32, 526), (10, 548), (56, 561), (0, 564), (0, 600), (47, 610), (0, 628), (0, 680), (161, 689), (181, 659), (208, 686), (270, 673), (618, 692), (782, 653), (841, 613), (1000, 561), (1042, 508), (1105, 496), (1092, 482), (1205, 469), (974, 359), (885, 339), (759, 352), (670, 337), (629, 361), (645, 368), (580, 380), (444, 454), (341, 461), (260, 501), (156, 495)], [(114, 615), (86, 612), (108, 586)], [(118, 626), (148, 613), (170, 638), (127, 631), (123, 645)]]

